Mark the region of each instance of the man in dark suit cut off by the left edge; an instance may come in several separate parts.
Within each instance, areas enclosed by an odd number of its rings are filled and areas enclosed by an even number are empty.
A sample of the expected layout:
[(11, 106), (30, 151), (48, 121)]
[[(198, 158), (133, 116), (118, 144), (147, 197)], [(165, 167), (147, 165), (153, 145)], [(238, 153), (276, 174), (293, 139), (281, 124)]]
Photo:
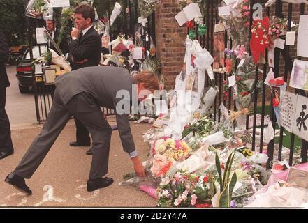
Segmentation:
[(10, 138), (10, 121), (6, 114), (6, 87), (10, 86), (6, 74), (8, 61), (8, 45), (3, 33), (0, 31), (0, 160), (13, 154), (13, 144)]

